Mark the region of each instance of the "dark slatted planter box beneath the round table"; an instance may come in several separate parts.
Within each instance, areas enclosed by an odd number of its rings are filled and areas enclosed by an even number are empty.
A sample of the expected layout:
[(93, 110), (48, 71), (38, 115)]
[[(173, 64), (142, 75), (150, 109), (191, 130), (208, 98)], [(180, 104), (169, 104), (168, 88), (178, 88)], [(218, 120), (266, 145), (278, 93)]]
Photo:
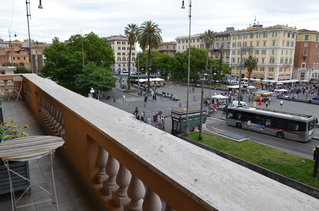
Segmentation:
[[(21, 176), (30, 179), (28, 161), (9, 163), (9, 168)], [(13, 172), (10, 172), (10, 176), (14, 191), (24, 190), (30, 185), (29, 181), (19, 177)], [(5, 165), (0, 165), (0, 194), (4, 193), (10, 193), (10, 181), (7, 167)], [(31, 188), (29, 188), (28, 194), (29, 196), (31, 195)]]

